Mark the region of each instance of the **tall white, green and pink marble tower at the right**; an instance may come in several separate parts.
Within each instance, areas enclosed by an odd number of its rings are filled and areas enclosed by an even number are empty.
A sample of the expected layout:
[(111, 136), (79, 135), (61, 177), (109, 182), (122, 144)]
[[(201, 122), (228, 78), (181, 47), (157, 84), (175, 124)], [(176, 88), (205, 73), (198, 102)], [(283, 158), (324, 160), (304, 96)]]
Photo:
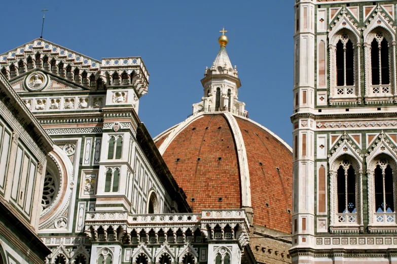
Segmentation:
[(295, 3), (293, 263), (397, 261), (396, 4)]

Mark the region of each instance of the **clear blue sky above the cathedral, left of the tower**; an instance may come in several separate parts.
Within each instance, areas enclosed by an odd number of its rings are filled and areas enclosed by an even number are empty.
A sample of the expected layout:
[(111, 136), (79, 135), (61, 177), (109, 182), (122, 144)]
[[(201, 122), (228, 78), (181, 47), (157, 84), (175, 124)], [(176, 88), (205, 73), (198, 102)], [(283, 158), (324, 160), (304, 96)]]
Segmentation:
[(292, 143), (294, 1), (7, 1), (0, 53), (40, 37), (100, 60), (141, 56), (150, 73), (139, 117), (152, 137), (186, 119), (219, 51), (222, 27), (249, 117)]

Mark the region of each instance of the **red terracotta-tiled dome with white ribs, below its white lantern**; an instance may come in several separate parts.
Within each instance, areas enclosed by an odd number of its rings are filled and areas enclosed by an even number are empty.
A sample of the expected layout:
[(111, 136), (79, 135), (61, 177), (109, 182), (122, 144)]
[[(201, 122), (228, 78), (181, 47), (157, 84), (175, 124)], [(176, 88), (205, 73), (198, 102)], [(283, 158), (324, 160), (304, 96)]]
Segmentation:
[(155, 138), (193, 211), (252, 208), (253, 224), (291, 233), (292, 149), (228, 111), (199, 112)]

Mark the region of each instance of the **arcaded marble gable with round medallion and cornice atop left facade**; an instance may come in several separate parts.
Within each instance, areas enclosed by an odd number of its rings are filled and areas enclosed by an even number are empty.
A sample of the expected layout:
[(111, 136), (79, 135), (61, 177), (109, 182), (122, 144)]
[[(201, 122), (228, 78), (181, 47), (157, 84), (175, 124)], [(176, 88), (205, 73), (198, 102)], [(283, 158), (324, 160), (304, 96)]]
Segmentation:
[[(30, 75), (35, 71), (38, 75)], [(139, 98), (148, 93), (149, 85), (149, 73), (140, 57), (99, 61), (42, 38), (0, 55), (0, 72), (18, 92), (76, 87), (96, 91), (122, 85), (134, 87)], [(55, 77), (58, 81), (54, 83)]]

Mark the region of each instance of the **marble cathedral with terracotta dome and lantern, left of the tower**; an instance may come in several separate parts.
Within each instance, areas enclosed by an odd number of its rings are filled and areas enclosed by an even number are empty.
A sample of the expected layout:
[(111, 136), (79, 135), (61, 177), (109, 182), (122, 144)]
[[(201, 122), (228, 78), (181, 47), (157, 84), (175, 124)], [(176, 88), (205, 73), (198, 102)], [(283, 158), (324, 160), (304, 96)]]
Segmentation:
[[(31, 202), (37, 219), (27, 225), (39, 259), (48, 264), (291, 262), (291, 240), (285, 237), (291, 232), (292, 149), (247, 118), (245, 104), (237, 100), (241, 84), (226, 53), (226, 36), (220, 44), (202, 79), (206, 97), (194, 104), (194, 114), (178, 133), (166, 130), (155, 140), (138, 117), (139, 99), (149, 85), (142, 58), (98, 61), (42, 38), (0, 55), (2, 84), (10, 93), (2, 100), (18, 102), (31, 119), (14, 128), (2, 108), (1, 120), (10, 126), (4, 131), (13, 139), (3, 135), (12, 141), (10, 157), (19, 157), (13, 131), (31, 136), (20, 137), (26, 151), (40, 149), (32, 159), (37, 178), (28, 182), (37, 185), (31, 201), (41, 202)], [(197, 133), (192, 139), (209, 133), (201, 153), (173, 145), (190, 126)], [(184, 154), (174, 158), (175, 148)], [(204, 156), (208, 148), (219, 151)], [(262, 155), (266, 148), (270, 152)], [(175, 164), (184, 169), (175, 170)], [(202, 167), (188, 173), (192, 164)], [(213, 174), (203, 172), (215, 165)], [(20, 167), (22, 178), (25, 167)], [(263, 184), (264, 170), (271, 170), (266, 175), (272, 186)], [(10, 169), (8, 177), (14, 174)], [(231, 180), (222, 195), (217, 185), (192, 193), (193, 184), (221, 179)], [(27, 200), (20, 191), (18, 197)], [(9, 203), (27, 210), (18, 204), (28, 202)], [(256, 237), (252, 243), (251, 237)], [(4, 263), (40, 262), (26, 258), (30, 253), (23, 247), (14, 249), (12, 240), (0, 239)]]

